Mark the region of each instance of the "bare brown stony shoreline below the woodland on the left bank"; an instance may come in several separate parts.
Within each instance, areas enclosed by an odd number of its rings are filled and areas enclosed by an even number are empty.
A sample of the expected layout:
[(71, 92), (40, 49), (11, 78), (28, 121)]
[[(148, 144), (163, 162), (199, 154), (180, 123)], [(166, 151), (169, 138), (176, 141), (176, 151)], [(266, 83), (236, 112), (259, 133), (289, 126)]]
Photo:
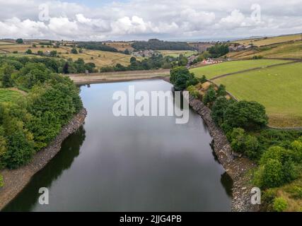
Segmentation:
[(30, 182), (35, 173), (40, 171), (47, 162), (57, 155), (61, 150), (62, 142), (72, 133), (77, 131), (86, 119), (87, 111), (85, 108), (74, 116), (69, 124), (64, 126), (59, 135), (47, 146), (33, 156), (33, 160), (18, 169), (3, 169), (0, 174), (4, 177), (4, 186), (0, 188), (0, 210), (4, 208), (19, 192)]

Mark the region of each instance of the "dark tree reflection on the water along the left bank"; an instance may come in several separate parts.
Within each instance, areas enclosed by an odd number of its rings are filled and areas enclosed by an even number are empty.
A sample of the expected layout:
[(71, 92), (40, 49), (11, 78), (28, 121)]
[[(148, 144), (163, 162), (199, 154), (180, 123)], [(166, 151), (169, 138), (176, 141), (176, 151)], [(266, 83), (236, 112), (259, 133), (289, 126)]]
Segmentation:
[(75, 157), (80, 153), (79, 150), (85, 138), (85, 129), (81, 126), (78, 131), (63, 141), (61, 151), (47, 163), (42, 171), (33, 176), (30, 183), (2, 211), (33, 210), (40, 196), (38, 193), (40, 187), (50, 187), (52, 182), (59, 178), (64, 170), (71, 167)]

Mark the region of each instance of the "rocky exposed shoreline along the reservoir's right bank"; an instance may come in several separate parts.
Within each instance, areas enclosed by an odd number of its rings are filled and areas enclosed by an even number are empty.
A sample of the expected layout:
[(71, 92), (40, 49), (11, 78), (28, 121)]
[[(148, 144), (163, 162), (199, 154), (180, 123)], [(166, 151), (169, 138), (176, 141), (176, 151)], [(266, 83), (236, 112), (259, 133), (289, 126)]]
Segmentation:
[[(164, 81), (170, 83), (170, 79), (165, 78)], [(214, 152), (226, 170), (226, 173), (233, 179), (232, 188), (232, 212), (255, 212), (259, 211), (260, 206), (252, 205), (250, 202), (250, 190), (252, 185), (250, 184), (250, 175), (248, 172), (256, 165), (248, 160), (246, 157), (239, 157), (236, 153), (233, 153), (230, 143), (226, 138), (223, 131), (216, 126), (213, 119), (211, 119), (211, 109), (205, 106), (201, 100), (190, 95), (189, 105), (199, 114), (204, 122), (207, 124), (209, 133), (211, 135), (212, 148)]]

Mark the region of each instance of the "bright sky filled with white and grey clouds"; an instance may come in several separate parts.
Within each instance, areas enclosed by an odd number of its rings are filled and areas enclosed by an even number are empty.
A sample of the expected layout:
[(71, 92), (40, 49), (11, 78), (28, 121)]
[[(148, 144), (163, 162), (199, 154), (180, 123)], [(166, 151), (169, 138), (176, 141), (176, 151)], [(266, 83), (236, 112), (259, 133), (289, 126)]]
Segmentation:
[(226, 40), (302, 32), (302, 0), (0, 0), (0, 39)]

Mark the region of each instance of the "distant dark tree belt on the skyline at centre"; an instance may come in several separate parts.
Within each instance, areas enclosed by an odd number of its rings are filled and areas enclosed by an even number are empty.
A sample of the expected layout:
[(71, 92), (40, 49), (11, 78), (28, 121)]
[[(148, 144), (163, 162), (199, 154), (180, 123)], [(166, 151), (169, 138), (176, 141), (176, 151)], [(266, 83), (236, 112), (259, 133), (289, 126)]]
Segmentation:
[(157, 39), (149, 41), (133, 42), (132, 47), (137, 50), (153, 49), (153, 50), (193, 50), (187, 42), (168, 42)]

